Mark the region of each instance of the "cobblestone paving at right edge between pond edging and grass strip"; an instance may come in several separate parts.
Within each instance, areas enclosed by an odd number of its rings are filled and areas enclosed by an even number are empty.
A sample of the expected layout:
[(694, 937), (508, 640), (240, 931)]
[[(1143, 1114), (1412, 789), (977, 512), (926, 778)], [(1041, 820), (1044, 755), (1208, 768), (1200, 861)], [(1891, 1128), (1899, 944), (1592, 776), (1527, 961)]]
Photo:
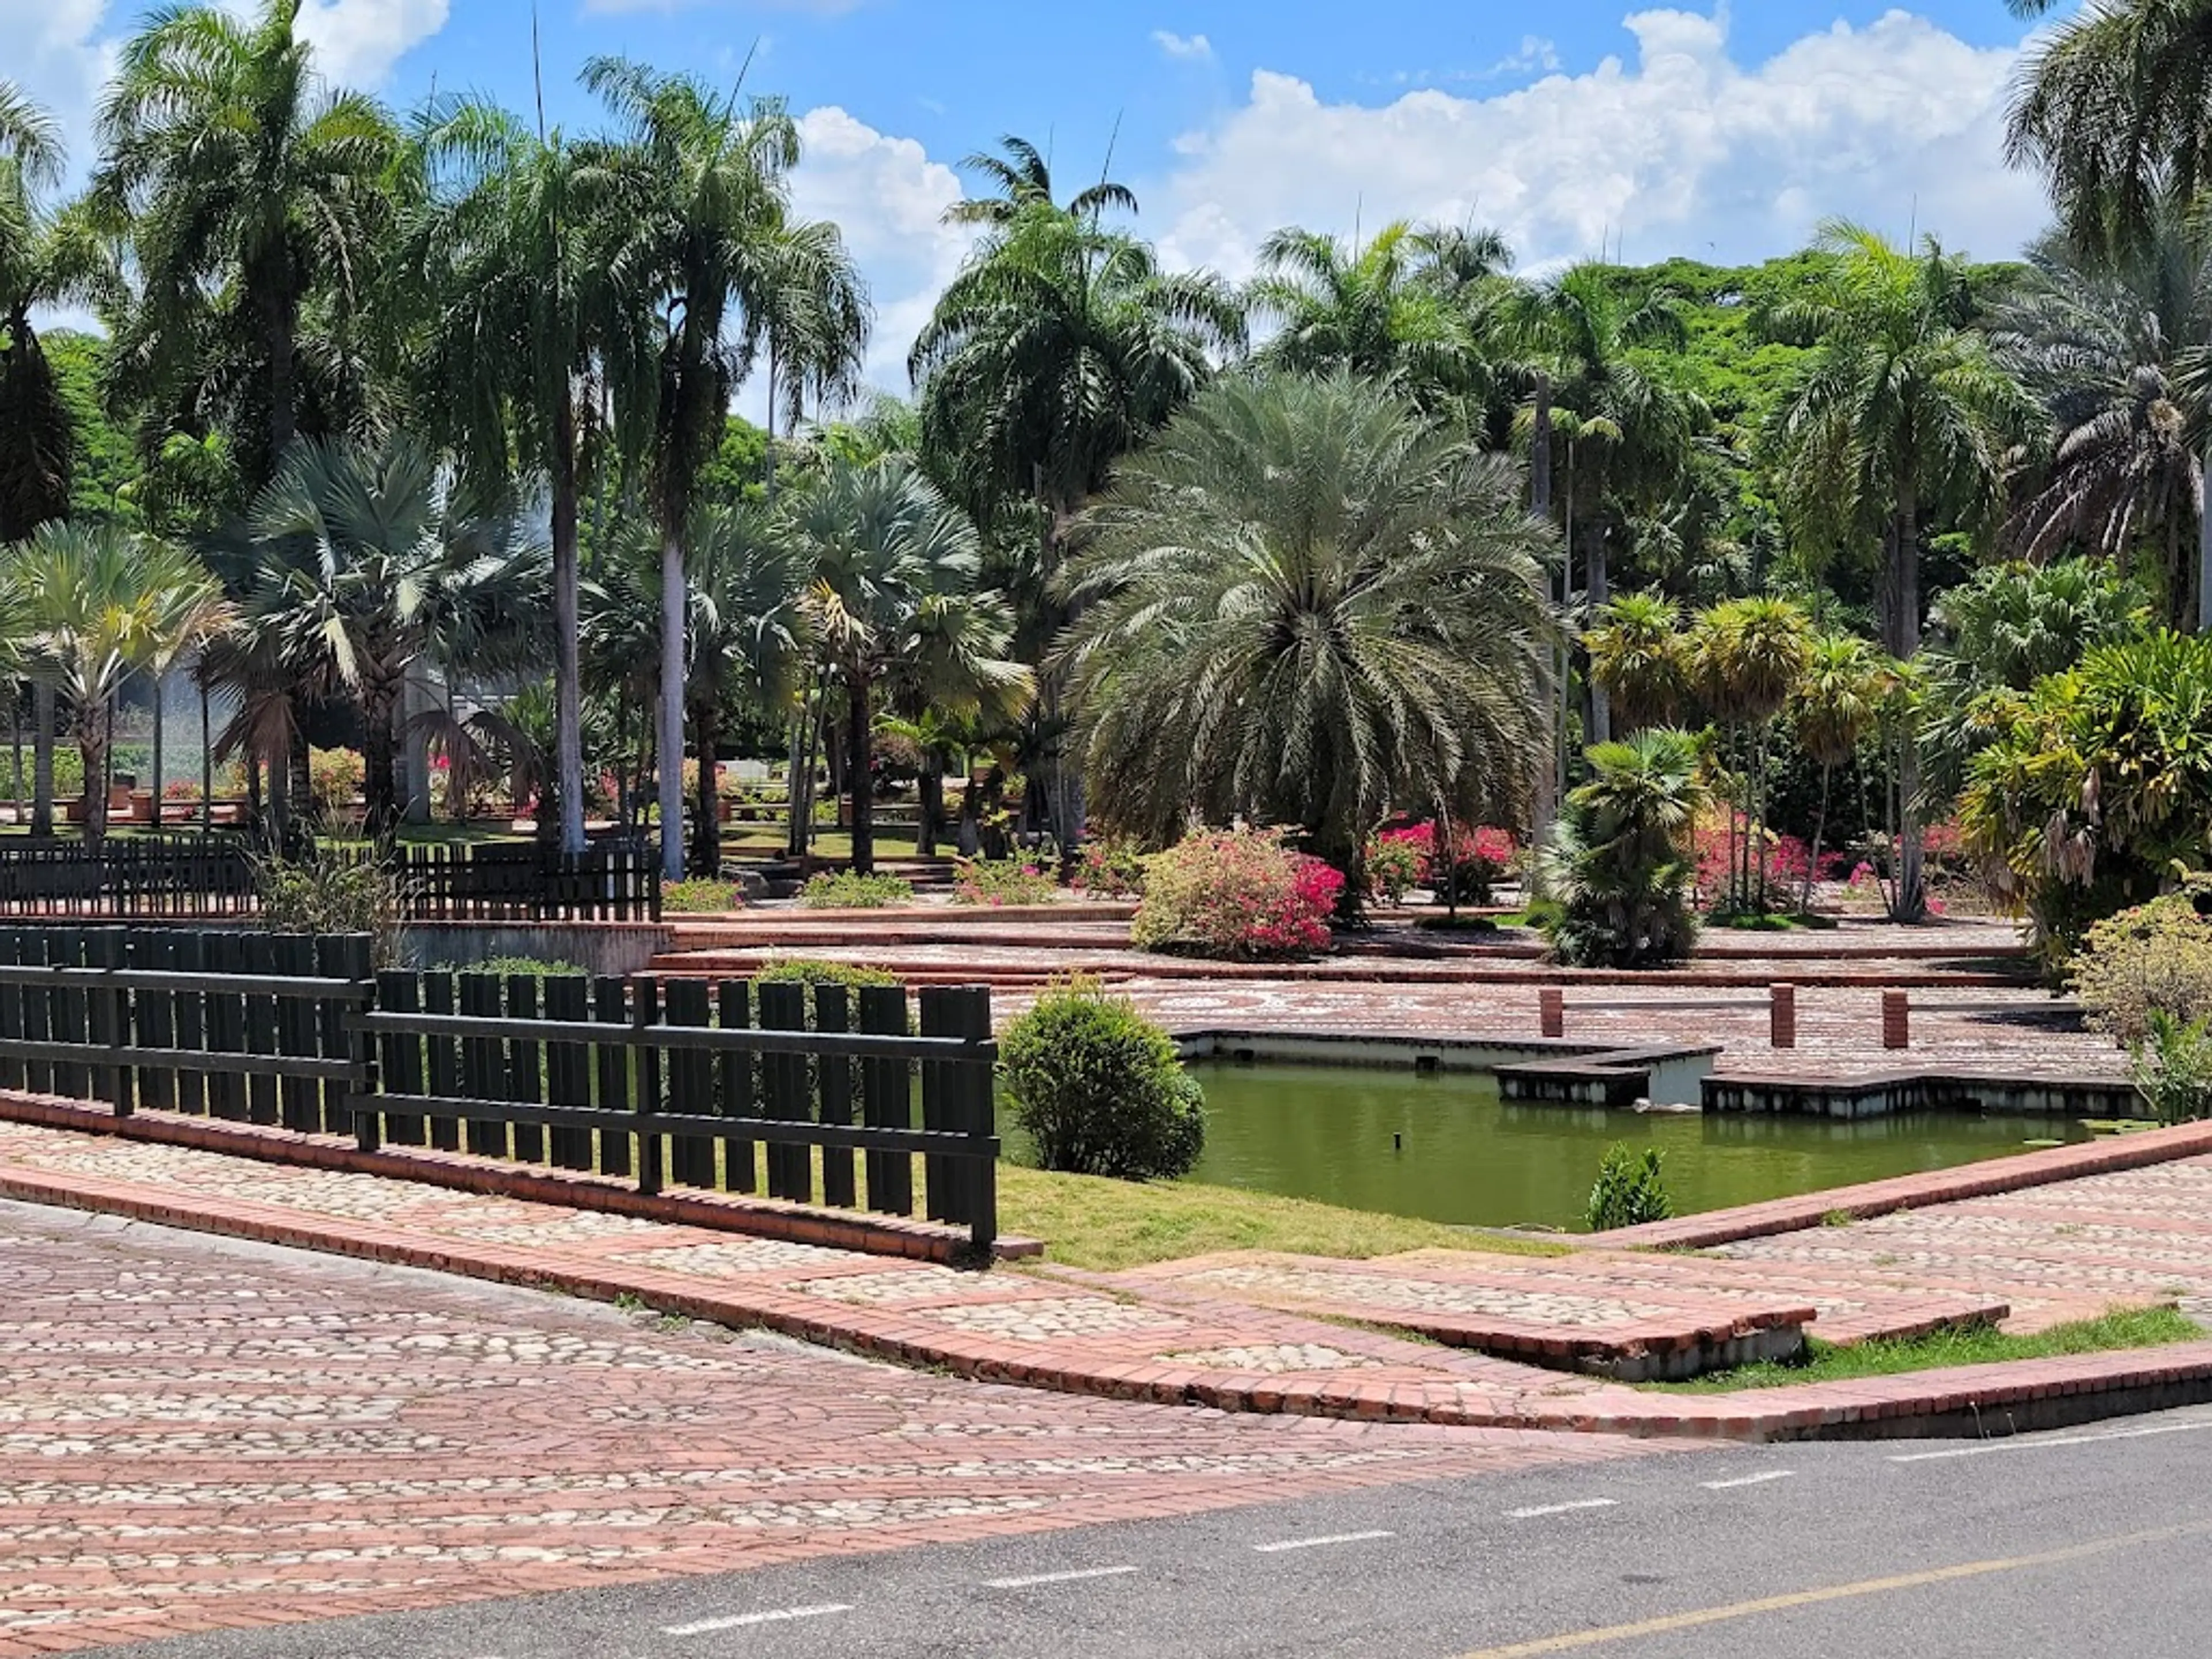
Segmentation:
[(2135, 1298), (2179, 1301), (2212, 1321), (2212, 1157), (1747, 1239), (1717, 1254), (1759, 1272), (2004, 1287), (2028, 1327), (2064, 1303)]

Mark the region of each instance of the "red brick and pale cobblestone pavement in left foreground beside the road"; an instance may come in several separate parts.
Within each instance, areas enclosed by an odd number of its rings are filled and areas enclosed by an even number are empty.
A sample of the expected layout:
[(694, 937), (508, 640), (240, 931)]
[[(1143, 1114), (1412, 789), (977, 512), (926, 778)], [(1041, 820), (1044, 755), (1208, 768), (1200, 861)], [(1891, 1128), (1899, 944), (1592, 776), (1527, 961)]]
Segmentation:
[(1632, 1449), (960, 1383), (27, 1206), (0, 1352), (9, 1657)]

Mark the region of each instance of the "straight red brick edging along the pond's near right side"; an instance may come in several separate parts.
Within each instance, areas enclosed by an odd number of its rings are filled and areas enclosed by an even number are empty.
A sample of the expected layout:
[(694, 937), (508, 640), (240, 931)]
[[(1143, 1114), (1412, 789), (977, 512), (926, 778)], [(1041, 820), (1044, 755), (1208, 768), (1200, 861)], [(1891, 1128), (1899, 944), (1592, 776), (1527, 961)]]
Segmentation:
[(2084, 1175), (2115, 1175), (2150, 1164), (2172, 1164), (2212, 1152), (2212, 1121), (2152, 1128), (2141, 1135), (2115, 1135), (2086, 1146), (2051, 1146), (2017, 1157), (1995, 1157), (1984, 1164), (1962, 1164), (1955, 1170), (1898, 1175), (1887, 1181), (1840, 1186), (1827, 1192), (1803, 1192), (1794, 1199), (1745, 1203), (1734, 1210), (1650, 1221), (1641, 1228), (1619, 1228), (1588, 1239), (1562, 1239), (1582, 1248), (1606, 1250), (1703, 1250), (1741, 1239), (1767, 1239), (1776, 1232), (1803, 1232), (1843, 1214), (1867, 1221), (1898, 1210), (1922, 1210), (1931, 1203), (1986, 1199), (2000, 1192), (2075, 1181)]

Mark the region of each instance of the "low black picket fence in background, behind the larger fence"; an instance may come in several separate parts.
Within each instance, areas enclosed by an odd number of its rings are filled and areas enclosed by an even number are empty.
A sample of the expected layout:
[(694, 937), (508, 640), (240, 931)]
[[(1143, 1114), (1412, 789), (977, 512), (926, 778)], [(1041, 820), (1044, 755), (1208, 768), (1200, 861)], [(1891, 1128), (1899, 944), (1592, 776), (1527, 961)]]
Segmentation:
[[(564, 854), (533, 843), (482, 843), (396, 847), (389, 856), (407, 920), (644, 922), (661, 916), (659, 860), (644, 847), (608, 843)], [(97, 847), (0, 841), (0, 916), (212, 920), (250, 914), (254, 905), (254, 860), (234, 836), (111, 838)]]

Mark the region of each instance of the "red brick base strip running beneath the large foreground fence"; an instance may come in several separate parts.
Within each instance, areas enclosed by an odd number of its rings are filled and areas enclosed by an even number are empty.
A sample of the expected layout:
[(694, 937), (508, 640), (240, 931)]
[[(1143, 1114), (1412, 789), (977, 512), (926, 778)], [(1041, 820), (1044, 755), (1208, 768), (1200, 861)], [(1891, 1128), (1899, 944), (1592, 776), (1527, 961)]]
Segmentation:
[[(133, 1113), (115, 1117), (104, 1108), (49, 1095), (0, 1091), (0, 1121), (35, 1128), (64, 1128), (82, 1135), (113, 1135), (126, 1141), (190, 1146), (201, 1152), (250, 1157), (263, 1164), (294, 1164), (312, 1170), (352, 1170), (396, 1181), (480, 1192), (529, 1203), (560, 1203), (571, 1210), (672, 1221), (686, 1228), (714, 1228), (759, 1239), (823, 1245), (827, 1250), (860, 1250), (876, 1256), (909, 1256), (951, 1263), (967, 1256), (964, 1228), (909, 1217), (845, 1214), (776, 1199), (752, 1199), (712, 1192), (644, 1194), (628, 1186), (582, 1170), (538, 1170), (513, 1164), (491, 1164), (467, 1152), (440, 1152), (418, 1146), (385, 1146), (363, 1152), (338, 1135), (301, 1135), (261, 1124), (237, 1124), (219, 1117), (166, 1117)], [(1000, 1239), (1000, 1259), (1042, 1256), (1037, 1239)]]

